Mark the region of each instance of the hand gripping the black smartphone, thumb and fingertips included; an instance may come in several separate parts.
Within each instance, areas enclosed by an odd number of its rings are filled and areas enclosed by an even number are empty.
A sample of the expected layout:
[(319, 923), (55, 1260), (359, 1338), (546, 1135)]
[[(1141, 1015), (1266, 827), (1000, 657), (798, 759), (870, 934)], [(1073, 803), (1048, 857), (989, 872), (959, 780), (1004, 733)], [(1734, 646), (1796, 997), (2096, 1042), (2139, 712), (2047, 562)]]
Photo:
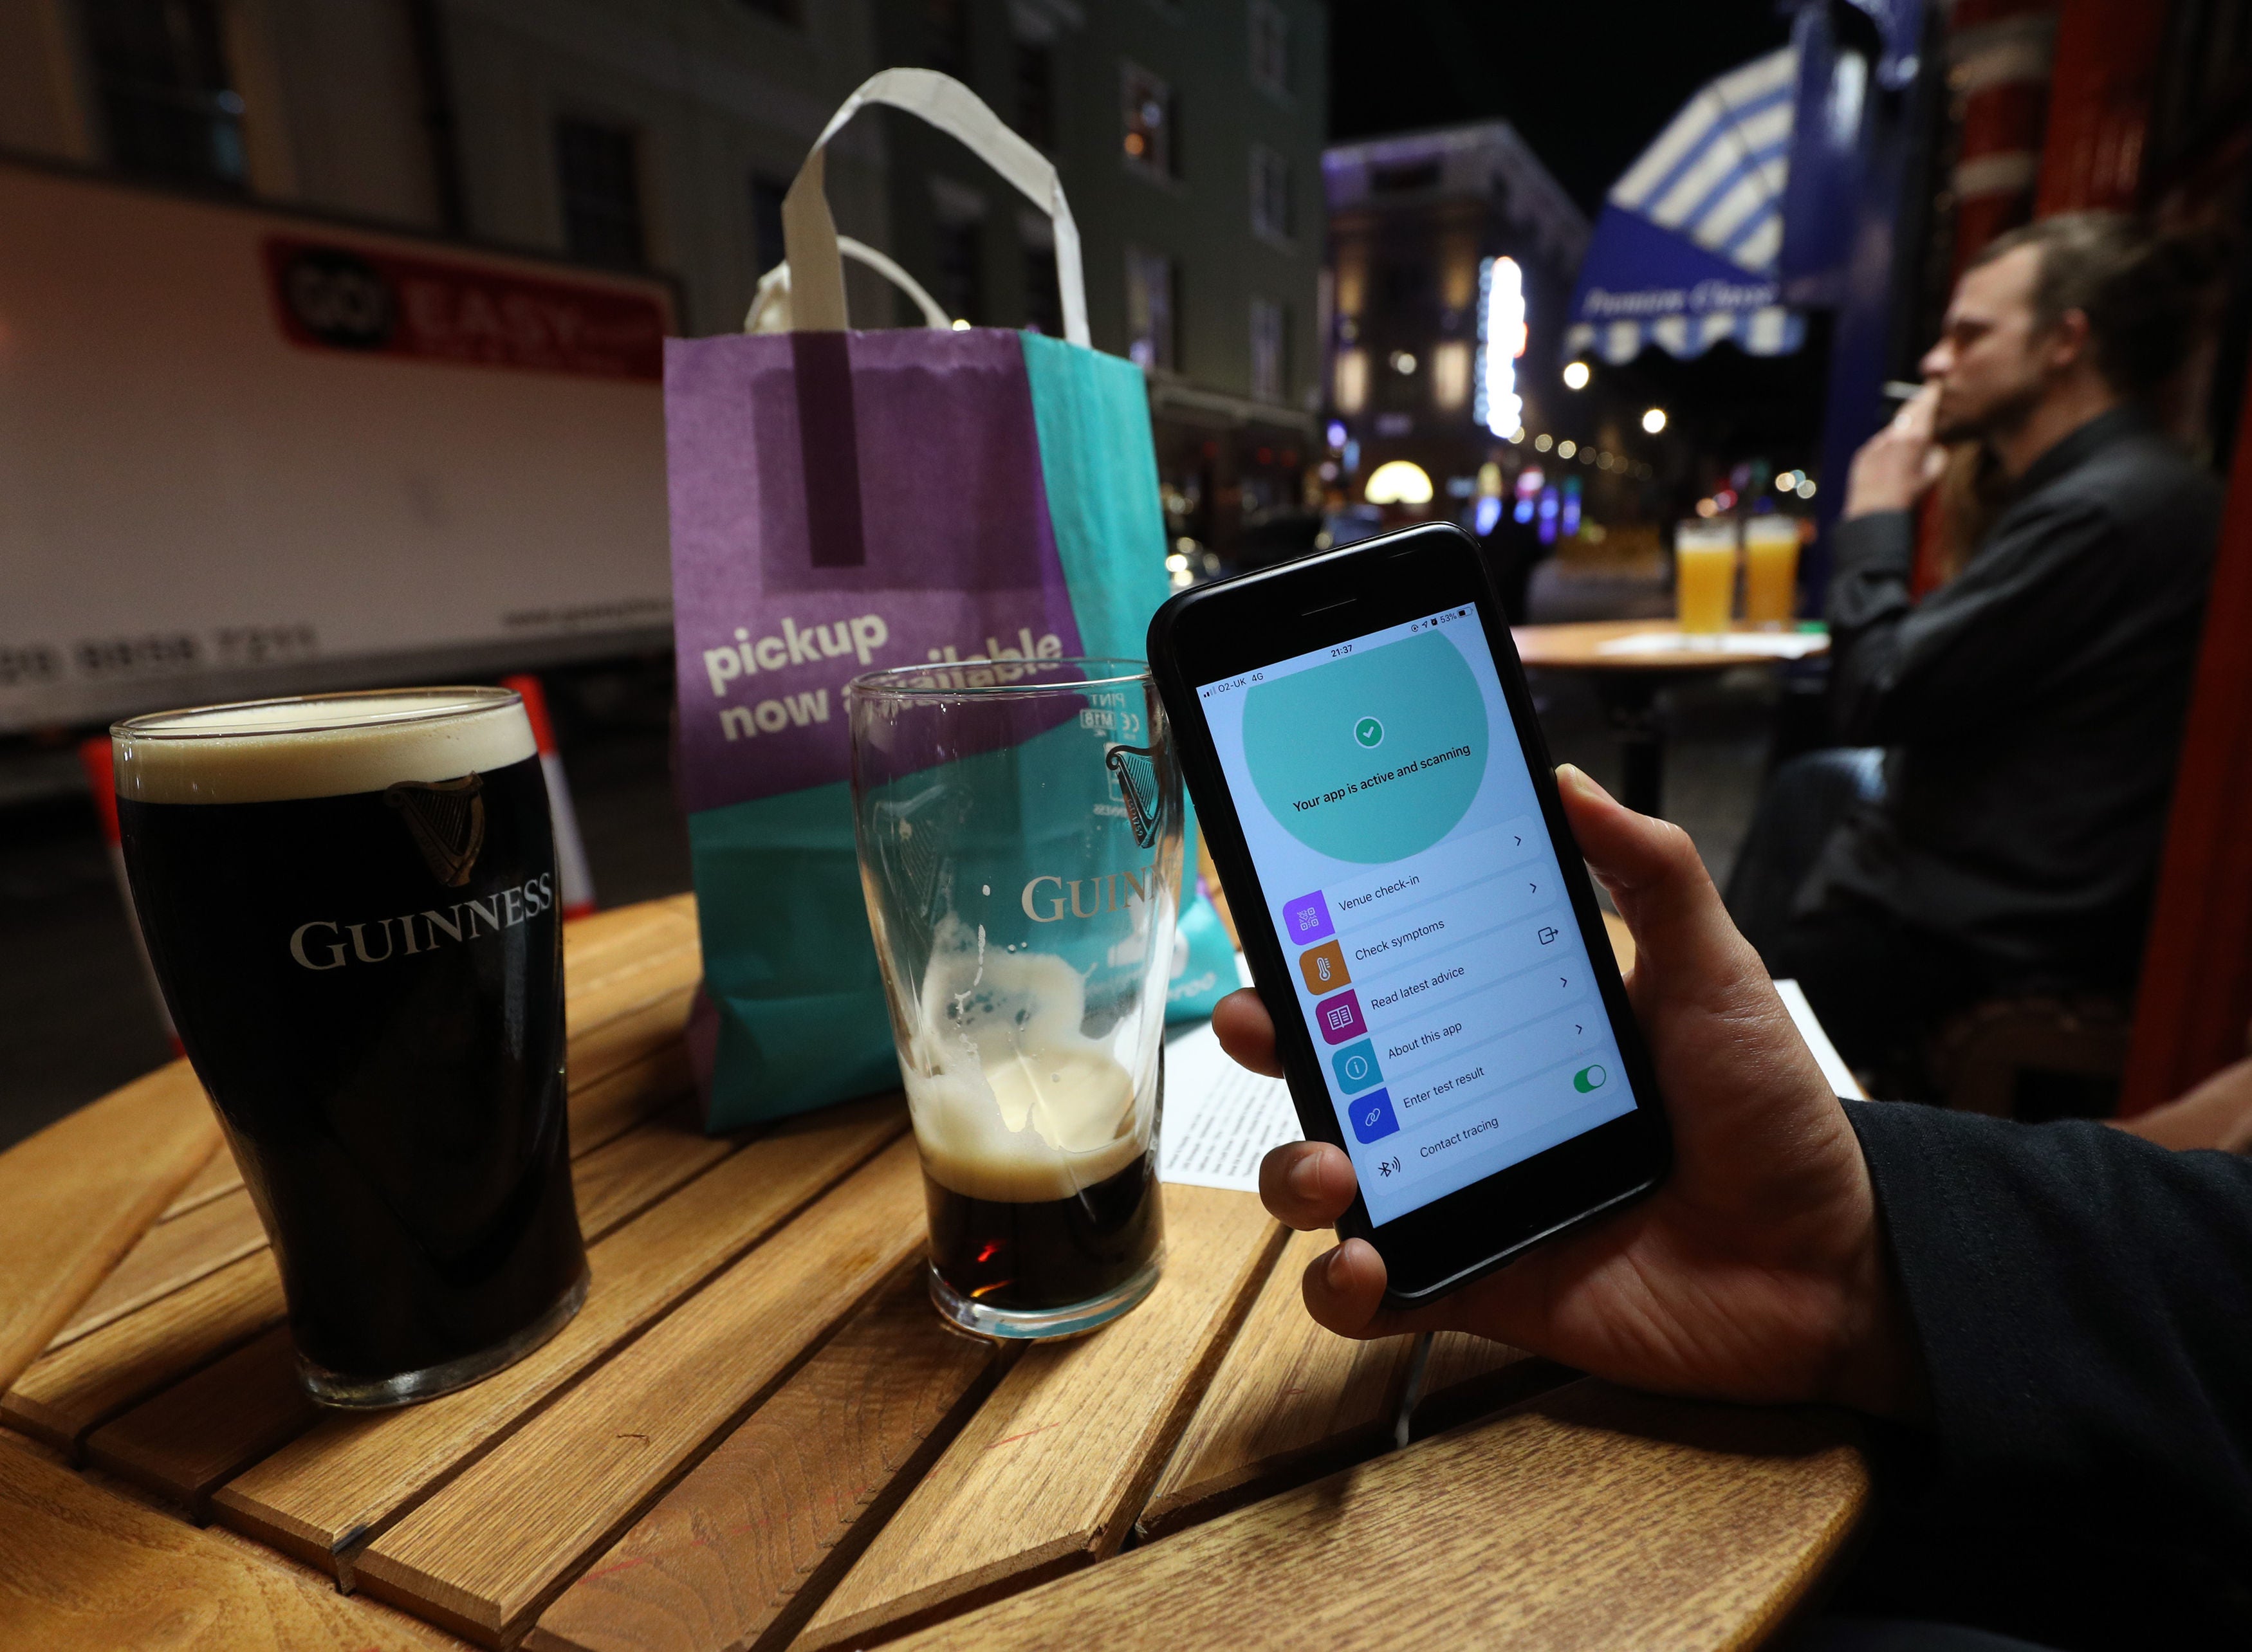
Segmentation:
[[(1910, 1418), (1925, 1400), (1876, 1231), (1869, 1170), (1775, 984), (1689, 840), (1558, 772), (1572, 833), (1635, 934), (1628, 995), (1673, 1107), (1666, 1184), (1446, 1301), (1385, 1308), (1385, 1265), (1347, 1240), (1306, 1267), (1306, 1308), (1344, 1337), (1468, 1330), (1615, 1382), (1750, 1402), (1822, 1400)], [(1212, 1017), (1275, 1074), (1252, 993)], [(1353, 1200), (1338, 1148), (1268, 1155), (1266, 1206), (1329, 1227)]]

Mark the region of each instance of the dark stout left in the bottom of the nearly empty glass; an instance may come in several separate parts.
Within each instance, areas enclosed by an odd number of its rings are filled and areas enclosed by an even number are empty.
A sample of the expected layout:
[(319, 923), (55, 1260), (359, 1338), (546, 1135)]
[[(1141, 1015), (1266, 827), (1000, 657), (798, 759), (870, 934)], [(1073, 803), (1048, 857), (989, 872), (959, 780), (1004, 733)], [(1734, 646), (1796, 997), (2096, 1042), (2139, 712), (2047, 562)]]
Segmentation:
[(1158, 1256), (1158, 1155), (1061, 1200), (980, 1200), (923, 1175), (930, 1267), (984, 1308), (1047, 1312), (1099, 1301)]

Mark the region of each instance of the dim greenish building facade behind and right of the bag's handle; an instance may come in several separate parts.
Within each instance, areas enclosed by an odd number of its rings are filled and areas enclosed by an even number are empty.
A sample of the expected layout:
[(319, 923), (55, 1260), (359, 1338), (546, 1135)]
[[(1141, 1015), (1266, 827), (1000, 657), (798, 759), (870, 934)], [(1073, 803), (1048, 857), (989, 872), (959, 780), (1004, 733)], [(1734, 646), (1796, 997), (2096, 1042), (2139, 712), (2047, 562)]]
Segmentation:
[[(1299, 509), (1320, 403), (1317, 0), (878, 0), (876, 41), (885, 63), (966, 81), (1056, 162), (1094, 347), (1149, 374), (1189, 554)], [(883, 119), (894, 257), (962, 320), (1052, 331), (1045, 214), (950, 137)]]

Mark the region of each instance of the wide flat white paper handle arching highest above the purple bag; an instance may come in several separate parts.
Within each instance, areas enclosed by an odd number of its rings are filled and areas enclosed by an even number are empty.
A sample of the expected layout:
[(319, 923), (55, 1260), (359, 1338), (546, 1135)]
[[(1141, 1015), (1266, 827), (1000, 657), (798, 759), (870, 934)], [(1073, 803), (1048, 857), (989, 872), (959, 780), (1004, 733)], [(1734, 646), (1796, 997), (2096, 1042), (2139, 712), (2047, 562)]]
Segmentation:
[(883, 70), (860, 81), (844, 106), (829, 117), (813, 153), (797, 169), (781, 198), (781, 248), (790, 261), (790, 326), (799, 333), (842, 333), (844, 259), (835, 218), (829, 216), (824, 160), (829, 140), (867, 104), (887, 104), (962, 140), (971, 153), (1016, 185), (1056, 227), (1056, 286), (1063, 288), (1063, 338), (1090, 344), (1088, 277), (1079, 263), (1079, 225), (1063, 198), (1063, 180), (1047, 155), (1011, 133), (962, 81), (937, 70)]

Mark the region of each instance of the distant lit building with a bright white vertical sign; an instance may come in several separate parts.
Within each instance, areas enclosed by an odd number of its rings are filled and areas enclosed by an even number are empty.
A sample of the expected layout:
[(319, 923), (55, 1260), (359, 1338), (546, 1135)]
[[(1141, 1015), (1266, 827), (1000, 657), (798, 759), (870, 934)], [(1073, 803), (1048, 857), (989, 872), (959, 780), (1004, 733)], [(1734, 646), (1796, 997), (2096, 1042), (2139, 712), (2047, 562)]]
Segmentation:
[[(1338, 144), (1322, 178), (1335, 491), (1360, 504), (1403, 461), (1435, 495), (1417, 513), (1462, 515), (1482, 475), (1489, 493), (1516, 482), (1570, 394), (1558, 351), (1588, 221), (1507, 122)], [(1398, 475), (1367, 502), (1421, 506)]]

